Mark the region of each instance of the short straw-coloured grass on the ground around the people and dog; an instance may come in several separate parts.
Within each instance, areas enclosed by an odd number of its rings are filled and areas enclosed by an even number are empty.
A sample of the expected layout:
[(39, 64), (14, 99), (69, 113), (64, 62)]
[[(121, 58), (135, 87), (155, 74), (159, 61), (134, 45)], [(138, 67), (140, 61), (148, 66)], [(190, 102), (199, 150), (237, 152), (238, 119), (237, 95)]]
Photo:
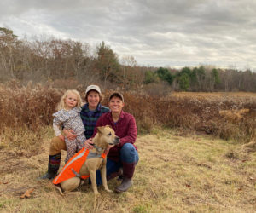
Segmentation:
[[(47, 169), (51, 129), (40, 131), (42, 146), (0, 147), (0, 212), (92, 212), (90, 185), (62, 197)], [(34, 135), (26, 135), (32, 138)], [(154, 129), (139, 135), (140, 161), (126, 193), (102, 196), (96, 212), (255, 212), (256, 145), (222, 141), (209, 135)], [(62, 163), (66, 153), (62, 155)], [(108, 182), (113, 189), (118, 180)], [(31, 197), (20, 195), (34, 189)]]

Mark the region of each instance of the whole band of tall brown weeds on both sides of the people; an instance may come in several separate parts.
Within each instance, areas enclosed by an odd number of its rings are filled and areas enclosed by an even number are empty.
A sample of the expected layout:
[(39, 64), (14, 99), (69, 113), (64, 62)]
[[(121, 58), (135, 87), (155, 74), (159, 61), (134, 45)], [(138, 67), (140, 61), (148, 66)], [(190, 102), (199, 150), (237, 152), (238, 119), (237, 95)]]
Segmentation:
[[(84, 90), (79, 86), (81, 94)], [(103, 104), (108, 95), (104, 92)], [(0, 133), (5, 128), (38, 131), (52, 123), (52, 113), (62, 91), (49, 86), (0, 85)], [(140, 132), (155, 125), (204, 131), (226, 140), (249, 142), (256, 138), (256, 95), (192, 94), (165, 96), (126, 91), (125, 111), (134, 115)]]

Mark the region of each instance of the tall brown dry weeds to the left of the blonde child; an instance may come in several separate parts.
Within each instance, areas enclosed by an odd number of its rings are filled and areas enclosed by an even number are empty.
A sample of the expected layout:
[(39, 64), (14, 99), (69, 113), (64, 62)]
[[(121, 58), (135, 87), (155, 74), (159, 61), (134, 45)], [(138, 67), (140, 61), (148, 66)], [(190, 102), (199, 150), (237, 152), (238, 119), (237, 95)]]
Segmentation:
[(38, 130), (49, 125), (60, 98), (61, 91), (40, 84), (22, 87), (13, 81), (0, 86), (0, 126)]

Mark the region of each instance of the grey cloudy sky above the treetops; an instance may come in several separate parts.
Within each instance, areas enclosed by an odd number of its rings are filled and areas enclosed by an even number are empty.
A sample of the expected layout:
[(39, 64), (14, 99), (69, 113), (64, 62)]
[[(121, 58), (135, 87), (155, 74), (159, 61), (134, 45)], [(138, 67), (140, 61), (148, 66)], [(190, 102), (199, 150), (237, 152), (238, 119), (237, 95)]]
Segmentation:
[(105, 41), (141, 66), (212, 65), (256, 72), (255, 0), (1, 0), (19, 37)]

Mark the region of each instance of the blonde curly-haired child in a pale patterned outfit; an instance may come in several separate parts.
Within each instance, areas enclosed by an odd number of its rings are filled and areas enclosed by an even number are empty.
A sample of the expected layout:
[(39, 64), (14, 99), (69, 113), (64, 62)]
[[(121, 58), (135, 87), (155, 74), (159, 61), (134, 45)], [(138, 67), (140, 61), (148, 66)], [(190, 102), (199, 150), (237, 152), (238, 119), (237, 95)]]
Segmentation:
[[(65, 163), (73, 157), (73, 155), (84, 147), (84, 141), (86, 141), (84, 135), (84, 124), (80, 118), (81, 112), (81, 97), (77, 90), (67, 90), (61, 97), (61, 101), (57, 107), (59, 110), (55, 112), (53, 116), (53, 128), (55, 135), (59, 136), (62, 140), (65, 140), (67, 147), (67, 158)], [(73, 141), (69, 141), (67, 137), (61, 135), (60, 126), (67, 130), (73, 130), (77, 135), (77, 138)]]

